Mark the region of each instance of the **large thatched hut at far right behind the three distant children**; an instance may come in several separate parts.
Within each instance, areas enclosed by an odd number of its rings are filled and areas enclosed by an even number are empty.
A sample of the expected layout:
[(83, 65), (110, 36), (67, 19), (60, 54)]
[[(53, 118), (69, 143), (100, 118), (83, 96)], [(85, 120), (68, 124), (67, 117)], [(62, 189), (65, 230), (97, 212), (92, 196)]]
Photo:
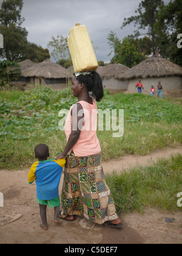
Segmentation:
[(181, 66), (154, 55), (121, 74), (120, 79), (129, 79), (128, 91), (131, 92), (135, 92), (135, 85), (141, 79), (144, 91), (148, 93), (152, 84), (157, 89), (159, 80), (164, 90), (181, 90), (181, 76)]

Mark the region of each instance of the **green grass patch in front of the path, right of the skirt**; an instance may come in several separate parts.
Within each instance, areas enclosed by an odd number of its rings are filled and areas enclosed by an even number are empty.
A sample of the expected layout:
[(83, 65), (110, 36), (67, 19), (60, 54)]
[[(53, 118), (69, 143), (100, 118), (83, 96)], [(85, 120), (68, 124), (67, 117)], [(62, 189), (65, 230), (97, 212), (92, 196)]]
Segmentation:
[(136, 166), (130, 172), (106, 176), (118, 213), (144, 212), (145, 207), (182, 210), (177, 194), (182, 192), (182, 156), (159, 160), (148, 167)]

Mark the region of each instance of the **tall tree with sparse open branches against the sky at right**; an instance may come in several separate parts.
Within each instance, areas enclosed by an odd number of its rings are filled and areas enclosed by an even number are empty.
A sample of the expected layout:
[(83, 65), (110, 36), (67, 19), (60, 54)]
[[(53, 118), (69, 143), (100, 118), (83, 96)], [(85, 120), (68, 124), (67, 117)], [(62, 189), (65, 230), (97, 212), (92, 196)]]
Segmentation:
[[(152, 41), (152, 52), (155, 54), (155, 51), (161, 46), (160, 38), (163, 37), (163, 40), (166, 41), (167, 38), (164, 38), (166, 35), (166, 29), (164, 23), (161, 24), (160, 29), (155, 29), (155, 23), (157, 22), (157, 11), (160, 9), (160, 6), (164, 5), (163, 0), (144, 0), (139, 4), (138, 9), (135, 11), (136, 16), (131, 16), (129, 18), (124, 18), (123, 27), (127, 26), (130, 23), (134, 23), (135, 26), (138, 26), (138, 30), (135, 30), (133, 37), (139, 37), (140, 35), (147, 35)], [(147, 30), (144, 34), (140, 33), (140, 30)]]

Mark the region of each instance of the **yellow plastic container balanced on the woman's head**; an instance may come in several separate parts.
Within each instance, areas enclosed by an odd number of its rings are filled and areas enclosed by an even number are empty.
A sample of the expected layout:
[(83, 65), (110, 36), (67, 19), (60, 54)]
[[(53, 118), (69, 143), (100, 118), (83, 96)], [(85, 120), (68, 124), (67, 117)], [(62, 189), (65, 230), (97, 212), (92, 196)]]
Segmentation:
[(75, 27), (72, 27), (67, 41), (75, 73), (95, 71), (98, 68), (98, 62), (86, 26), (76, 24)]

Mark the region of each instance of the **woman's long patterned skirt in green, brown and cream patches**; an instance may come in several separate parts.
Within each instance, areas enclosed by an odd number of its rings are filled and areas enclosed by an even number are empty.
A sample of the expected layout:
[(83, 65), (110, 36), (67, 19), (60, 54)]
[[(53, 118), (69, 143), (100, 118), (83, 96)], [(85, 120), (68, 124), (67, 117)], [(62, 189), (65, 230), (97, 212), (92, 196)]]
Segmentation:
[(118, 219), (115, 202), (104, 179), (101, 153), (66, 157), (61, 215), (83, 216), (97, 224)]

